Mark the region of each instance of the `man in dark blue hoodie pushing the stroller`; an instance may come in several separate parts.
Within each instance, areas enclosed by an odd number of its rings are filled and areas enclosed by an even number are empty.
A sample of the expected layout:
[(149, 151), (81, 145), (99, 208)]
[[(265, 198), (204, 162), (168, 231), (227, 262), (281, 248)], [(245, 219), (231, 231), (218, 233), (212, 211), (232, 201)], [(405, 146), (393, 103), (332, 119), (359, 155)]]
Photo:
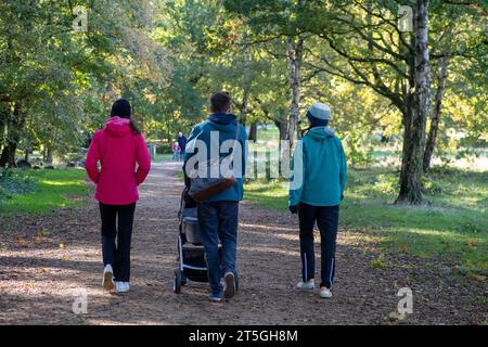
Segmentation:
[[(231, 113), (231, 99), (226, 92), (217, 92), (210, 98), (210, 112), (207, 120), (197, 124), (188, 139), (184, 155), (183, 171), (187, 175), (187, 163), (195, 155), (202, 156), (202, 147), (206, 150), (205, 160), (215, 157), (228, 157), (233, 153), (233, 174), (236, 184), (198, 203), (198, 222), (202, 243), (210, 282), (210, 299), (220, 301), (234, 296), (237, 287), (237, 270), (235, 259), (237, 254), (239, 202), (243, 198), (243, 176), (246, 162), (246, 130), (236, 116)], [(235, 143), (237, 139), (237, 143)], [(198, 145), (203, 144), (203, 146)], [(230, 141), (230, 142), (229, 142)], [(232, 143), (229, 145), (229, 143)], [(216, 150), (217, 149), (217, 150)], [(198, 159), (200, 160), (200, 159)], [(190, 180), (185, 177), (185, 184)], [(219, 253), (219, 241), (222, 249)], [(224, 285), (221, 284), (223, 277)]]

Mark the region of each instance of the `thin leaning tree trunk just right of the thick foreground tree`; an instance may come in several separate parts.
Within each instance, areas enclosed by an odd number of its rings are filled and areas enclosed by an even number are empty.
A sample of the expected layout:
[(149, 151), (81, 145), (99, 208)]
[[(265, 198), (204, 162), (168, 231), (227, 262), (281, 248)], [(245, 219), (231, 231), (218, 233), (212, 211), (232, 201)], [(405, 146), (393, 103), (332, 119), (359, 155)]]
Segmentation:
[(431, 129), (428, 130), (427, 143), (425, 144), (423, 170), (427, 172), (431, 168), (431, 160), (436, 147), (437, 132), (440, 121), (440, 110), (442, 107), (442, 99), (446, 92), (446, 80), (448, 76), (449, 59), (442, 57), (440, 61), (440, 75), (438, 78), (436, 100), (434, 104), (434, 113), (431, 117)]

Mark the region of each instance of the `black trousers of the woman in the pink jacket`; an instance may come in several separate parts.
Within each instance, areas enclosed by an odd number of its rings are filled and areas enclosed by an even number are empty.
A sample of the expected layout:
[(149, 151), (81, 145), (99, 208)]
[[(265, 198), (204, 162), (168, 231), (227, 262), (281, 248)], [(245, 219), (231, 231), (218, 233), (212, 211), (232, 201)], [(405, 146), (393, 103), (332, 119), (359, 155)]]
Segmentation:
[(136, 203), (100, 204), (103, 266), (112, 265), (115, 281), (129, 282), (130, 280), (130, 242), (134, 211)]

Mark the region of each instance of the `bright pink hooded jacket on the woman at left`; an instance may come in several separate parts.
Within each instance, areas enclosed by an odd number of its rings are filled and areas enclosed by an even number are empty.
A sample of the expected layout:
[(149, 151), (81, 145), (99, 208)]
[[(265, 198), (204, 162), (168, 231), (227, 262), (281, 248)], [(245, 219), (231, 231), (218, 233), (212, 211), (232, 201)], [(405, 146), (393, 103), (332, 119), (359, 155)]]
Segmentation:
[(144, 138), (134, 134), (129, 123), (129, 119), (112, 117), (104, 129), (95, 132), (88, 150), (85, 168), (97, 184), (95, 200), (102, 204), (137, 202), (138, 185), (150, 171), (151, 156)]

